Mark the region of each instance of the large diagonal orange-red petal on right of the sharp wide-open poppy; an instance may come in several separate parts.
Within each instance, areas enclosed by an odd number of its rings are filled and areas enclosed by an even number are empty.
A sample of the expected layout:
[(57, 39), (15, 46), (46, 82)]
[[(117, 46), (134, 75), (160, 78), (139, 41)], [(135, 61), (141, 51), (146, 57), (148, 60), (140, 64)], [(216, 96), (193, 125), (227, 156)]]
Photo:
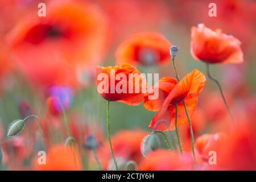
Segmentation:
[[(205, 85), (205, 76), (203, 73), (194, 69), (191, 73), (186, 75), (175, 87), (171, 90), (170, 94), (163, 102), (161, 109), (155, 115), (150, 123), (150, 128), (153, 129), (155, 123), (159, 119), (164, 119), (170, 123), (168, 129), (175, 129), (175, 103), (178, 104), (178, 126), (183, 125), (188, 121), (187, 114), (185, 113), (183, 100), (185, 100), (189, 116), (193, 114), (196, 109), (199, 93), (203, 90)], [(158, 128), (163, 130), (163, 128)]]

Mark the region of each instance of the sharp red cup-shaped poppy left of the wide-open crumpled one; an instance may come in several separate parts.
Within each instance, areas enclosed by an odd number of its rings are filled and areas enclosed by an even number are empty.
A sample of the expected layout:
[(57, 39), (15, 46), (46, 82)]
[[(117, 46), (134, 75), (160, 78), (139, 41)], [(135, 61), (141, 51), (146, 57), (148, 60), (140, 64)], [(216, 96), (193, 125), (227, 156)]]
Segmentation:
[(139, 105), (146, 93), (147, 83), (137, 68), (122, 64), (114, 67), (97, 67), (96, 85), (98, 93), (105, 100)]

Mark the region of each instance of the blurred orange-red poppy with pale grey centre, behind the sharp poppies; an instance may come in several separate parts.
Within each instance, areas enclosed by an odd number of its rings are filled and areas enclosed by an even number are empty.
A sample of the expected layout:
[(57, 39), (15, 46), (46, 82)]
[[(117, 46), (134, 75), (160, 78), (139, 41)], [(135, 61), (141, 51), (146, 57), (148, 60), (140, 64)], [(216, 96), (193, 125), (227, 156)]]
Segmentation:
[(125, 40), (115, 53), (117, 64), (158, 65), (171, 59), (171, 43), (164, 36), (154, 32), (144, 32)]

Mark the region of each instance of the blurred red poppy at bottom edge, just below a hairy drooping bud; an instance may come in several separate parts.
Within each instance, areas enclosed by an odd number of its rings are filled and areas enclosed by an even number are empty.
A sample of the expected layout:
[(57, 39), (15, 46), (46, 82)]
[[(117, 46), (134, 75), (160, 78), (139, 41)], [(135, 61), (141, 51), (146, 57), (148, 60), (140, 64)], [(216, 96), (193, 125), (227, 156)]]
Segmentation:
[(191, 155), (171, 154), (168, 150), (151, 151), (150, 154), (139, 163), (141, 171), (173, 171), (192, 170), (193, 159)]

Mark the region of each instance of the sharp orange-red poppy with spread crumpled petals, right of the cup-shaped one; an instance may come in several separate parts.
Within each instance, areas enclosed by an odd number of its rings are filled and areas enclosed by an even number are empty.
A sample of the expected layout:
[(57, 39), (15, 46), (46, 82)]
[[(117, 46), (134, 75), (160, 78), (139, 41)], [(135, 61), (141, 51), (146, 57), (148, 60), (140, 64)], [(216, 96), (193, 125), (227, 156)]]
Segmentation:
[(203, 73), (194, 69), (186, 75), (180, 82), (174, 78), (163, 77), (154, 89), (159, 89), (159, 97), (156, 100), (149, 100), (147, 94), (144, 97), (144, 107), (150, 111), (158, 111), (152, 119), (149, 127), (154, 129), (159, 119), (164, 119), (170, 126), (166, 127), (164, 123), (160, 123), (156, 129), (158, 130), (174, 130), (175, 129), (175, 104), (178, 105), (178, 122), (177, 126), (183, 125), (188, 121), (185, 113), (183, 100), (185, 101), (188, 113), (191, 116), (196, 109), (198, 95), (204, 89), (205, 76)]

